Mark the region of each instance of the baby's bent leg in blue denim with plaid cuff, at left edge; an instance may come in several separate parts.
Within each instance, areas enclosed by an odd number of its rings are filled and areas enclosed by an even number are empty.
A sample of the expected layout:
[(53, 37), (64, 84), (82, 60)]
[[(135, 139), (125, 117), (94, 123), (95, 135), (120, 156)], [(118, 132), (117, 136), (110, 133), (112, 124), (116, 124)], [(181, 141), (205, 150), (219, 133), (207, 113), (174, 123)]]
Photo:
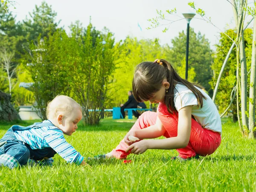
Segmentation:
[(22, 143), (7, 140), (0, 148), (0, 166), (8, 166), (13, 169), (19, 165), (25, 165), (29, 160), (29, 149)]

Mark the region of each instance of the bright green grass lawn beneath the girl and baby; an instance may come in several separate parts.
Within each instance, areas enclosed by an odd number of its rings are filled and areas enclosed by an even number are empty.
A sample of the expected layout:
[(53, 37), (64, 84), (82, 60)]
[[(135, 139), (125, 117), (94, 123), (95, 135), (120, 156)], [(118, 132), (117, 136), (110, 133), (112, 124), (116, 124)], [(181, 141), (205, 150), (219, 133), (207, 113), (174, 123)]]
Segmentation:
[[(126, 121), (127, 119), (125, 119)], [(111, 151), (133, 125), (103, 119), (66, 137), (84, 157)], [(134, 120), (133, 120), (134, 121)], [(29, 125), (32, 121), (19, 122)], [(0, 124), (0, 137), (9, 128)], [(180, 163), (168, 160), (175, 150), (148, 150), (122, 160), (86, 160), (92, 167), (67, 164), (58, 154), (52, 167), (0, 168), (0, 191), (256, 191), (256, 140), (241, 137), (225, 119), (222, 143), (214, 154)]]

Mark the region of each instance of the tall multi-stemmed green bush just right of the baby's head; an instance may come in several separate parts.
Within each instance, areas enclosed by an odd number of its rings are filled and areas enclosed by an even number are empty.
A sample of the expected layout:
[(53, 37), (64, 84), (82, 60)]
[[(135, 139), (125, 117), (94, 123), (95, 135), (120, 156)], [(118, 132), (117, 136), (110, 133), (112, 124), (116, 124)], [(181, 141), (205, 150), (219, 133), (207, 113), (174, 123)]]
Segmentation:
[[(73, 91), (83, 109), (84, 123), (90, 125), (99, 124), (104, 109), (110, 76), (115, 69), (113, 47), (113, 34), (109, 31), (99, 35), (93, 44), (92, 24), (87, 26), (86, 35), (77, 35), (79, 31), (73, 28), (73, 36), (70, 41), (76, 47), (73, 50), (76, 65), (73, 70)], [(77, 42), (77, 44), (76, 44)]]

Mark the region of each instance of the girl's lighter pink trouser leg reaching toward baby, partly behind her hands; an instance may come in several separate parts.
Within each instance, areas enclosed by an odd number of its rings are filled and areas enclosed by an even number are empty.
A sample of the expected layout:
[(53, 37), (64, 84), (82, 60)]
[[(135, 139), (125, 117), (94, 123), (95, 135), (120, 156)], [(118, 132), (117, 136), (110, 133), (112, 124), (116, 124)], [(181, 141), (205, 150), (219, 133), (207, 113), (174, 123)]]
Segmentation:
[[(135, 122), (133, 127), (131, 128), (130, 131), (138, 130), (138, 129), (144, 129), (147, 128), (151, 125), (154, 125), (157, 120), (157, 113), (147, 111), (144, 112), (140, 115), (139, 119)], [(129, 131), (129, 132), (130, 132)], [(129, 152), (125, 152), (125, 149), (128, 147), (128, 145), (125, 143), (124, 139), (119, 143), (119, 145), (116, 146), (113, 151), (110, 153), (106, 154), (107, 158), (112, 158), (115, 157), (117, 159), (124, 159), (127, 157)]]

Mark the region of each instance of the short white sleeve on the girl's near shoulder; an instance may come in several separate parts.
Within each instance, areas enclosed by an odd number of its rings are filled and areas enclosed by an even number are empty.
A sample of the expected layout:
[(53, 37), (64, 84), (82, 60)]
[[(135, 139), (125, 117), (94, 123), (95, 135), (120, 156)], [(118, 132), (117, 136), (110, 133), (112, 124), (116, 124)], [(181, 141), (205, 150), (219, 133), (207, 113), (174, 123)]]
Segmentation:
[(189, 105), (198, 105), (198, 101), (194, 93), (176, 93), (174, 105), (177, 111)]

